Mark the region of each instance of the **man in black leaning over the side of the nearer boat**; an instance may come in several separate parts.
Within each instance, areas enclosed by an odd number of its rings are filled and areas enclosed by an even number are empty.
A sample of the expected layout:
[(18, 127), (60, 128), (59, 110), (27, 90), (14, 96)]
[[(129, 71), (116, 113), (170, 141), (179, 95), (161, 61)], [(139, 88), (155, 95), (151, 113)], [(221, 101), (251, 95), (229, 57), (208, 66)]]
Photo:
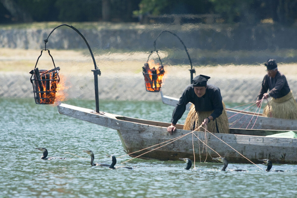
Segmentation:
[[(194, 130), (203, 124), (208, 125), (207, 130), (210, 132), (229, 133), (228, 118), (225, 105), (222, 102), (221, 91), (217, 86), (207, 84), (209, 78), (209, 76), (198, 75), (192, 80), (193, 84), (184, 90), (173, 111), (171, 126), (167, 128), (170, 134), (175, 131), (176, 123), (184, 114), (189, 102), (192, 102), (193, 106), (184, 125), (185, 130)], [(219, 122), (217, 122), (217, 118), (220, 119)], [(185, 128), (189, 125), (190, 127)]]

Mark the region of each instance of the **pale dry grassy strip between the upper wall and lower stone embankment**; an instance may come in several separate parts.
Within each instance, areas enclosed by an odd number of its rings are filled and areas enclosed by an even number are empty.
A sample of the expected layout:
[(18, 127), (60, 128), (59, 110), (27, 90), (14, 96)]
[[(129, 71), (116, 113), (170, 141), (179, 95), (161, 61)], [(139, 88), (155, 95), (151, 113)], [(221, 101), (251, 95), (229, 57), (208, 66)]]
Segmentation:
[[(41, 50), (23, 50), (0, 48), (0, 72), (25, 72), (29, 74), (34, 69)], [(222, 52), (225, 53), (225, 52)], [(255, 52), (256, 53), (256, 52)], [(94, 64), (88, 51), (85, 50), (50, 50), (56, 66), (61, 67), (62, 73), (89, 74)], [(94, 53), (96, 64), (102, 75), (135, 75), (141, 74), (142, 66), (146, 63), (149, 53), (147, 52), (104, 52)], [(168, 56), (161, 53), (161, 56)], [(153, 57), (156, 58), (156, 57)], [(158, 61), (156, 59), (156, 61)], [(228, 78), (239, 77), (262, 77), (266, 74), (265, 66), (258, 64), (193, 64), (196, 75), (205, 74), (210, 76), (226, 76)], [(189, 64), (168, 64), (163, 62), (165, 72), (170, 76), (189, 76)], [(47, 53), (42, 53), (37, 67), (40, 69), (51, 69), (53, 63)], [(279, 71), (289, 78), (295, 78), (297, 67), (295, 63), (279, 63)]]

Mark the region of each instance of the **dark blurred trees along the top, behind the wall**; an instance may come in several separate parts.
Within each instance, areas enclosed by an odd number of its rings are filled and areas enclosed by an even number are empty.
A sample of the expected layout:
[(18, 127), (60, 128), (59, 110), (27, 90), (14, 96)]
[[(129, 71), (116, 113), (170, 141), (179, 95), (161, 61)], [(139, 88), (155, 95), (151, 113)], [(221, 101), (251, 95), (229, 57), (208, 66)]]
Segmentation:
[(220, 23), (292, 25), (297, 0), (0, 0), (0, 23), (139, 22), (146, 16), (219, 15)]

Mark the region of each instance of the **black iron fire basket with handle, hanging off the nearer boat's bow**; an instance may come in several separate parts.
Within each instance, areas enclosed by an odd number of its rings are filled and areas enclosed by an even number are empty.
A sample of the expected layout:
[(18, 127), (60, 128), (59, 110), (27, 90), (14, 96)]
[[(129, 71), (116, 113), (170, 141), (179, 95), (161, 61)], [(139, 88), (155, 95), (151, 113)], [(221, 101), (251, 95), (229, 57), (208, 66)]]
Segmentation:
[[(48, 51), (48, 54), (50, 55), (50, 50), (41, 50), (40, 56), (42, 55), (42, 51)], [(31, 74), (30, 81), (33, 85), (35, 103), (53, 104), (56, 98), (57, 84), (60, 82), (60, 67), (55, 66), (53, 57), (50, 55), (54, 68), (49, 70), (38, 69), (36, 66), (40, 56), (37, 58), (35, 68), (29, 72)]]

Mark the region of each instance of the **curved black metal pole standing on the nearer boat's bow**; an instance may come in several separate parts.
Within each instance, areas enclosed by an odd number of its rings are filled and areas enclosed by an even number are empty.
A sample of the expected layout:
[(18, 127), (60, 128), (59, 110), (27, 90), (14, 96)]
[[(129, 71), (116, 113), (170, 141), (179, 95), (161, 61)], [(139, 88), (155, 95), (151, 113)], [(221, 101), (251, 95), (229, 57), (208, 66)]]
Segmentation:
[[(95, 58), (94, 58), (94, 55), (92, 53), (92, 50), (91, 50), (91, 47), (89, 45), (89, 43), (87, 42), (86, 38), (83, 36), (83, 34), (80, 33), (80, 31), (78, 31), (75, 27), (73, 26), (69, 26), (67, 24), (62, 24), (62, 25), (59, 25), (57, 27), (55, 27), (51, 32), (50, 34), (53, 33), (53, 31), (61, 26), (67, 26), (69, 28), (72, 28), (73, 30), (75, 30), (82, 38), (83, 40), (85, 41), (86, 45), (88, 46), (89, 48), (89, 51), (90, 51), (90, 54), (91, 54), (91, 57), (93, 59), (93, 63), (94, 63), (94, 66), (95, 66), (95, 69), (94, 70), (91, 70), (93, 73), (94, 73), (94, 86), (95, 86), (95, 103), (96, 103), (96, 112), (97, 113), (100, 113), (99, 112), (99, 91), (98, 91), (98, 75), (100, 76), (101, 75), (101, 72), (100, 72), (100, 69), (98, 69), (98, 66), (96, 64), (96, 61), (95, 61)], [(50, 37), (50, 34), (48, 35), (48, 37)], [(46, 50), (46, 43), (48, 42), (48, 38), (44, 40), (45, 42), (45, 50)]]

